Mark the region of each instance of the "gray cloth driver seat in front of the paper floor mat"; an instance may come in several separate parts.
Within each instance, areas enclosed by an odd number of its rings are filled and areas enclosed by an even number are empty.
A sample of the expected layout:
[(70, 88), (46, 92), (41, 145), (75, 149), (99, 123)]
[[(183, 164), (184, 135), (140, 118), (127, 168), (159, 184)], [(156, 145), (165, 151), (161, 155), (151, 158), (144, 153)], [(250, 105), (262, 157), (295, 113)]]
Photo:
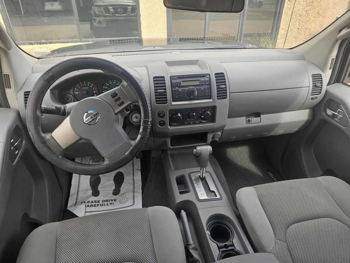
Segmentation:
[(179, 224), (167, 207), (128, 209), (42, 225), (17, 263), (186, 263)]

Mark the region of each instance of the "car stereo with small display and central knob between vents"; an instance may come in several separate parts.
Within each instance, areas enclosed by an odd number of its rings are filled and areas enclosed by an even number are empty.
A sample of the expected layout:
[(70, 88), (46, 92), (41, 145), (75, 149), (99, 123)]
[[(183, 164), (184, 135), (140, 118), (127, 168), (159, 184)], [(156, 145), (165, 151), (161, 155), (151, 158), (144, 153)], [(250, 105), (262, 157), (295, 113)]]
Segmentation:
[(170, 76), (172, 101), (211, 98), (210, 75)]

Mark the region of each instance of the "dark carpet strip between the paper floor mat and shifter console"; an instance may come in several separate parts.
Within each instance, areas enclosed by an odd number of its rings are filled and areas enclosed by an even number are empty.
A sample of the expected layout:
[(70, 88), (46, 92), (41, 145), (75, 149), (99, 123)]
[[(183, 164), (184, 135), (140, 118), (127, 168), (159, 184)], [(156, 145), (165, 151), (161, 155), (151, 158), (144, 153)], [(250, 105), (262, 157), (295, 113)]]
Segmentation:
[(151, 172), (149, 173), (144, 193), (142, 194), (142, 207), (161, 205), (170, 208), (162, 159), (152, 157), (151, 165)]

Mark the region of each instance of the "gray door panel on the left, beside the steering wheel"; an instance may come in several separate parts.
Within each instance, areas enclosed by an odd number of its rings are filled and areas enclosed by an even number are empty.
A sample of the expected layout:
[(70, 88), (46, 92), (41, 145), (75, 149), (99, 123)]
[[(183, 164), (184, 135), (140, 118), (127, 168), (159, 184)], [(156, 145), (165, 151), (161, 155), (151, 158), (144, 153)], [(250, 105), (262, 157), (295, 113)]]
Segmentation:
[(59, 220), (62, 196), (18, 110), (0, 108), (0, 123), (0, 262), (15, 262), (32, 230)]

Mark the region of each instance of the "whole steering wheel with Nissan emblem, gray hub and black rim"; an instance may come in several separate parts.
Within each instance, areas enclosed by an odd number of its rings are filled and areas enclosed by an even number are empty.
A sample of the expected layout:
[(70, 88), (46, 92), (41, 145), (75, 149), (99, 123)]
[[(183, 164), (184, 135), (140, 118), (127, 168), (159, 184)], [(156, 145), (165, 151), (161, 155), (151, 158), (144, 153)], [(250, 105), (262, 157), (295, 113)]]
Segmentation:
[[(97, 97), (79, 101), (52, 133), (43, 133), (40, 108), (46, 92), (60, 77), (80, 69), (98, 69), (120, 77), (123, 83)], [(122, 113), (132, 103), (139, 104), (142, 116), (134, 141), (122, 128)], [(109, 173), (130, 162), (144, 146), (152, 123), (151, 106), (140, 83), (124, 68), (100, 58), (72, 58), (48, 69), (30, 92), (26, 118), (31, 140), (45, 159), (66, 171), (84, 175)], [(104, 163), (85, 164), (65, 158), (64, 150), (80, 139), (91, 142), (104, 157)]]

